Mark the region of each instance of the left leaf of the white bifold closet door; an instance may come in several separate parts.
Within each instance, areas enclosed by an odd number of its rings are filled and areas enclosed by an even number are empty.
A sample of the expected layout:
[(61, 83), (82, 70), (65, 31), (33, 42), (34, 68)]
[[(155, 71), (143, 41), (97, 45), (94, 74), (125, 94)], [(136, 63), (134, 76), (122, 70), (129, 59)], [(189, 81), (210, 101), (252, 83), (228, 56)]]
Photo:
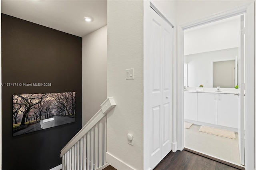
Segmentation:
[(162, 107), (162, 57), (161, 57), (161, 24), (158, 17), (151, 20), (151, 51), (150, 51), (150, 66), (151, 66), (151, 94), (150, 106), (152, 108), (151, 116), (151, 138), (150, 138), (150, 166), (156, 166), (161, 161), (162, 146), (161, 146), (161, 107)]

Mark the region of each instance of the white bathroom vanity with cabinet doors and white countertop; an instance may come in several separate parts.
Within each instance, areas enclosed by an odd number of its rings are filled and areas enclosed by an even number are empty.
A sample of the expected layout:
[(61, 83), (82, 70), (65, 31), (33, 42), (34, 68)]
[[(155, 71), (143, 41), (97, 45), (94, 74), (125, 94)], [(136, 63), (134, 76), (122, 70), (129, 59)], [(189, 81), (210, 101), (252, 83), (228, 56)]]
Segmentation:
[[(233, 88), (184, 91), (184, 119), (197, 125), (238, 129), (238, 91)], [(215, 90), (215, 91), (214, 91)], [(227, 91), (226, 91), (227, 90)]]

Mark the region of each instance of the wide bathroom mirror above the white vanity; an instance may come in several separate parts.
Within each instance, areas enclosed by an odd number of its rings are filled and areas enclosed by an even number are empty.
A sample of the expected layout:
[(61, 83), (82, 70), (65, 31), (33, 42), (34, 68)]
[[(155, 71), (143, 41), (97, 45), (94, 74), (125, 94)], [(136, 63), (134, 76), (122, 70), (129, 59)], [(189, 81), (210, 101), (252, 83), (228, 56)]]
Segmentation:
[[(184, 86), (232, 88), (238, 82), (238, 47), (184, 56)], [(185, 84), (186, 82), (186, 84)]]

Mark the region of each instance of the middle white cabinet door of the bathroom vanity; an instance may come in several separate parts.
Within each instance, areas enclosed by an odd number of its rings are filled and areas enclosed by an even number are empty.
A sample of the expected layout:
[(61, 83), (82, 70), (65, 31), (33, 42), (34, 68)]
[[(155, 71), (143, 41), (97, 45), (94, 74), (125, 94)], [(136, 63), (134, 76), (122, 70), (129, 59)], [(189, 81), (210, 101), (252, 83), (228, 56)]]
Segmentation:
[(197, 120), (199, 122), (217, 124), (217, 94), (197, 94)]

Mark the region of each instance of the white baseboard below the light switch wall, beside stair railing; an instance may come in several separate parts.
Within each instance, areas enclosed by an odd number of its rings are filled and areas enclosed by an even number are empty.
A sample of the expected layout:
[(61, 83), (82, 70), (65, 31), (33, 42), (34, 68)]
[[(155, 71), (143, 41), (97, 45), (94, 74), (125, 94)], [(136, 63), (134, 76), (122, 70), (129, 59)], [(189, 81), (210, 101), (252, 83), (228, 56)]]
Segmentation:
[(106, 152), (106, 162), (117, 170), (134, 170), (134, 168), (126, 164), (124, 161), (116, 158), (108, 152)]

